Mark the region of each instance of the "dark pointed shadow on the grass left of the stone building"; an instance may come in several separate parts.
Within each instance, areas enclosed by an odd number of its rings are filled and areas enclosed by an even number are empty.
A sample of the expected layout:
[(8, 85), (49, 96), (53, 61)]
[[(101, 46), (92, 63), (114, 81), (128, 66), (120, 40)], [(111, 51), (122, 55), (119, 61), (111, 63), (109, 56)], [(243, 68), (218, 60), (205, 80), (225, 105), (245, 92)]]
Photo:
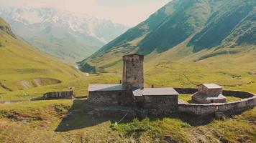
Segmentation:
[(75, 129), (93, 127), (103, 122), (113, 122), (113, 117), (98, 117), (89, 114), (93, 110), (86, 99), (76, 99), (66, 117), (62, 119), (55, 132), (68, 132)]

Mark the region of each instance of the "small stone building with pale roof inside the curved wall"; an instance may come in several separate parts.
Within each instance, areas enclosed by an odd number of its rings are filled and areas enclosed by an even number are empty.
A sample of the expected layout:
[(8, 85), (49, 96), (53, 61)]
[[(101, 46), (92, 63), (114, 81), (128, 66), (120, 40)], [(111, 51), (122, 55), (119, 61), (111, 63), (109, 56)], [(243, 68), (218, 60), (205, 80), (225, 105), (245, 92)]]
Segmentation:
[(201, 84), (198, 85), (198, 92), (192, 95), (195, 102), (201, 104), (224, 103), (226, 97), (222, 94), (223, 87), (217, 84)]

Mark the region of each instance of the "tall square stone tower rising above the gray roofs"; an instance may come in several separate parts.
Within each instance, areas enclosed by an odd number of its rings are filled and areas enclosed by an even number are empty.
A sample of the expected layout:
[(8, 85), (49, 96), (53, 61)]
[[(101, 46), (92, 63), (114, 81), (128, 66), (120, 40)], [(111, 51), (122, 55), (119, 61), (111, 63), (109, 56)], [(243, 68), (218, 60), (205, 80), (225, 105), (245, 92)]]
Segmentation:
[(143, 61), (144, 56), (140, 54), (129, 54), (123, 56), (123, 86), (144, 88)]

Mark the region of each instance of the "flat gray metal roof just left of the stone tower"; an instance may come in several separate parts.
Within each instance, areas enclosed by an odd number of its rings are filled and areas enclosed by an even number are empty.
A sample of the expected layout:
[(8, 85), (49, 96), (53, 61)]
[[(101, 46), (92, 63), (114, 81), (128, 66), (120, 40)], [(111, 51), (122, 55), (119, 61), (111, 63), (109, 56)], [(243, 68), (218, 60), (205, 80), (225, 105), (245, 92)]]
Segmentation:
[(88, 87), (89, 92), (95, 91), (123, 91), (122, 84), (90, 84)]

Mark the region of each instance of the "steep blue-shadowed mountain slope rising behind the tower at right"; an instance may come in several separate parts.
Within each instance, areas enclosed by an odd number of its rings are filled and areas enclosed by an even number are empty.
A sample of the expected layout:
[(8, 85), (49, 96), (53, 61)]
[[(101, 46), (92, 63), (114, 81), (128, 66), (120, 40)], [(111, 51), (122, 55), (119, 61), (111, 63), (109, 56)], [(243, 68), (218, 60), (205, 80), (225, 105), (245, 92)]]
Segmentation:
[(170, 1), (81, 61), (81, 70), (104, 71), (130, 53), (157, 57), (148, 61), (202, 61), (217, 55), (246, 54), (256, 41), (255, 7), (253, 0)]

